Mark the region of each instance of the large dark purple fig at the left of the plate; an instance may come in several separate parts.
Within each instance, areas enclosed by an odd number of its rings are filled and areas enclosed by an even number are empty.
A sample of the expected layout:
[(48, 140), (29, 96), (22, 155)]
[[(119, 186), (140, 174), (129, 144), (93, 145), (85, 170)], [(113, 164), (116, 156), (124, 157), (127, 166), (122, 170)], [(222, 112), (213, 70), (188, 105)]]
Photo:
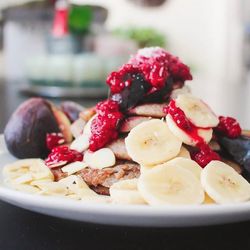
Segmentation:
[(17, 158), (45, 158), (46, 134), (60, 132), (52, 112), (52, 104), (42, 98), (22, 103), (10, 117), (4, 139), (11, 154)]

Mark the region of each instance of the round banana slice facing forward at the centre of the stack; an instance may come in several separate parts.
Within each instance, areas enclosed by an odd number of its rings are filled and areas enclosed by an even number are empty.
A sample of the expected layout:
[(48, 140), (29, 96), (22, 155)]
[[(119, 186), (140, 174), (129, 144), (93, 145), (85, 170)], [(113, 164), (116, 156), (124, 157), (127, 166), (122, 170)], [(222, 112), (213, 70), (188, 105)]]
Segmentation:
[(129, 156), (141, 165), (156, 165), (180, 152), (181, 141), (164, 121), (152, 119), (133, 128), (125, 139)]

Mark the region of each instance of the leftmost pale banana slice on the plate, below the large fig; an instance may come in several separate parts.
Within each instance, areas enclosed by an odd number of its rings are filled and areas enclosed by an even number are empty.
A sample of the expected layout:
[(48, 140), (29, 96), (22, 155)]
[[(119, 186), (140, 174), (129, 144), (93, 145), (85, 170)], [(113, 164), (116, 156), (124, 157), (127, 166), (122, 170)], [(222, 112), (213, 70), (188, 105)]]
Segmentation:
[[(18, 160), (14, 163), (8, 164), (3, 169), (3, 175), (6, 179), (11, 181), (17, 179), (17, 182), (19, 183), (28, 182), (28, 175), (30, 181), (40, 179), (54, 180), (52, 172), (40, 159)], [(24, 181), (25, 179), (26, 181)]]

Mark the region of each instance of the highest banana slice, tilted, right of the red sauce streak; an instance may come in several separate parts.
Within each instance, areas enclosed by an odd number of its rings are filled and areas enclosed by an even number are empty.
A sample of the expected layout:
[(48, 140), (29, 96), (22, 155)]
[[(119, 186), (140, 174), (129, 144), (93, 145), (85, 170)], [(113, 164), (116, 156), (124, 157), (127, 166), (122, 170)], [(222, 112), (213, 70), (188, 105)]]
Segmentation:
[(191, 94), (179, 95), (175, 100), (175, 104), (197, 127), (213, 128), (219, 123), (218, 117), (212, 112), (208, 105)]

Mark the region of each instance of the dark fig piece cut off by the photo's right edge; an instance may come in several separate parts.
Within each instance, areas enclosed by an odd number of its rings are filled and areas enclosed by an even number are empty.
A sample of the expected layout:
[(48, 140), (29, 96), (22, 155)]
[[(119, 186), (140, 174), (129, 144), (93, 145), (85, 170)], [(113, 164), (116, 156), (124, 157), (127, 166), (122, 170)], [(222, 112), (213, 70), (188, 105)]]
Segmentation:
[(230, 139), (218, 136), (218, 143), (244, 170), (250, 174), (250, 138), (240, 136)]

